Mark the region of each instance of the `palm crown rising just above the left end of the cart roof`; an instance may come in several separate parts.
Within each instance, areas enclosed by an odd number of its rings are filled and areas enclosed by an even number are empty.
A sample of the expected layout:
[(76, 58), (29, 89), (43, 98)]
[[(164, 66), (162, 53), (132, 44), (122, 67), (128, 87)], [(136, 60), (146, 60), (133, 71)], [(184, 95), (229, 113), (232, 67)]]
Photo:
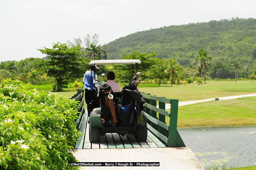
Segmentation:
[(95, 59), (107, 59), (107, 54), (106, 51), (103, 51), (100, 49), (100, 45), (99, 46), (95, 46), (93, 44), (90, 45), (90, 47), (85, 48), (86, 50), (86, 54), (85, 56), (89, 56), (90, 58)]

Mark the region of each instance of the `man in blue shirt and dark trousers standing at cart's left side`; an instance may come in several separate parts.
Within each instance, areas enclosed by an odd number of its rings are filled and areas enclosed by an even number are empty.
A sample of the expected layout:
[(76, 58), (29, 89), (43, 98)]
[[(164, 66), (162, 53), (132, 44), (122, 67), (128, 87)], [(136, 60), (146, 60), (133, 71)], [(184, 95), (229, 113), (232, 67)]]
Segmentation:
[[(96, 103), (94, 101), (94, 95), (96, 93), (96, 87), (95, 87), (95, 80), (97, 80), (97, 74), (96, 71), (99, 69), (96, 65), (91, 65), (91, 70), (86, 71), (83, 76), (83, 82), (84, 82), (84, 89), (85, 89), (85, 103), (87, 104), (87, 112), (88, 116), (90, 116), (90, 111), (97, 107)], [(90, 108), (90, 103), (91, 107)]]

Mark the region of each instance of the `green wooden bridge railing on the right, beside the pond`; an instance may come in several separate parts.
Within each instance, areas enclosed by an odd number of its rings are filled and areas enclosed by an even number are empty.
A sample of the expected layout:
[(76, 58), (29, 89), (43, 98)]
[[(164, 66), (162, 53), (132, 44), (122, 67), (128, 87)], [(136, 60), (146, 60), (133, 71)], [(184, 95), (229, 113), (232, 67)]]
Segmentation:
[[(144, 93), (141, 94), (146, 101), (143, 111), (147, 117), (148, 130), (159, 138), (167, 147), (186, 147), (177, 131), (179, 100), (152, 96)], [(159, 102), (158, 108), (156, 105), (157, 101)], [(165, 110), (166, 103), (171, 104), (170, 112)], [(166, 124), (166, 117), (170, 117), (169, 125)]]

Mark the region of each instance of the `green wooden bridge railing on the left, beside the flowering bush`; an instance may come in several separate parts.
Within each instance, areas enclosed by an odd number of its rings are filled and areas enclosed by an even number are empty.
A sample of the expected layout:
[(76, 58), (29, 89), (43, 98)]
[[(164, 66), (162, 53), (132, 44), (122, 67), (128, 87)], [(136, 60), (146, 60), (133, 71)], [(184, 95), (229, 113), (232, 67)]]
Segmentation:
[(76, 129), (79, 130), (79, 125), (81, 123), (83, 114), (85, 113), (85, 109), (84, 109), (84, 90), (83, 89), (77, 89), (77, 93), (74, 96), (72, 96), (70, 99), (75, 100), (75, 101), (79, 101), (79, 103), (77, 104), (77, 107), (76, 107), (76, 109), (79, 112), (79, 113), (77, 113), (78, 118), (75, 119)]

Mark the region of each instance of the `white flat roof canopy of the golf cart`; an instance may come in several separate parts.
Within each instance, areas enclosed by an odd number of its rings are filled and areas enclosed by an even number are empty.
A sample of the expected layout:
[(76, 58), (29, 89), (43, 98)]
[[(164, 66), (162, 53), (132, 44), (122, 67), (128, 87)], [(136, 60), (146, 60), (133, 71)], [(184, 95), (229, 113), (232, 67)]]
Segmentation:
[(89, 65), (140, 64), (140, 60), (91, 60)]

